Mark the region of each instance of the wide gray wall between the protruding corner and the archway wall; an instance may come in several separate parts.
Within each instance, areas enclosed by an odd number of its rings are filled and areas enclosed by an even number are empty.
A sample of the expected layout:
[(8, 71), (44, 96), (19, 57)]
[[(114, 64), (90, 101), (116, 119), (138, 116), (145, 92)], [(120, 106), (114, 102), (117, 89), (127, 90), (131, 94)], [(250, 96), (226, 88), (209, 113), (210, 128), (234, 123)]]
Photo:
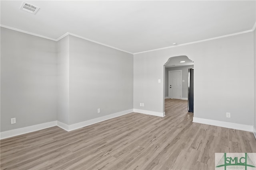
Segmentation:
[(69, 42), (70, 124), (132, 109), (133, 55), (74, 36)]

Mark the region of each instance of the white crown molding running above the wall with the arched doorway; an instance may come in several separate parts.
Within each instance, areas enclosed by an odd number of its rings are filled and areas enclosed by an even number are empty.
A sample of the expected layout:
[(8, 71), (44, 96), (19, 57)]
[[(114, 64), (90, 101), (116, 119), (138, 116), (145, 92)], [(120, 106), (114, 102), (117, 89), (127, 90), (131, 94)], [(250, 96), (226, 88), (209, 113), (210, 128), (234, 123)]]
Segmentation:
[[(255, 27), (254, 27), (254, 29), (255, 29)], [(220, 36), (220, 37), (214, 37), (214, 38), (204, 39), (204, 40), (200, 40), (200, 41), (194, 41), (194, 42), (190, 42), (190, 43), (179, 44), (179, 45), (172, 45), (172, 46), (169, 46), (169, 47), (163, 47), (163, 48), (159, 48), (159, 49), (152, 49), (152, 50), (142, 51), (142, 52), (133, 53), (133, 54), (135, 55), (135, 54), (141, 54), (141, 53), (148, 53), (148, 52), (151, 52), (151, 51), (158, 51), (158, 50), (163, 50), (163, 49), (180, 47), (180, 46), (184, 46), (184, 45), (196, 44), (196, 43), (201, 43), (201, 42), (204, 42), (204, 41), (211, 41), (211, 40), (214, 40), (214, 39), (220, 39), (220, 38), (224, 38), (224, 37), (230, 37), (230, 36), (234, 36), (234, 35), (249, 33), (249, 32), (252, 32), (252, 31), (253, 30), (251, 29), (251, 30), (242, 31), (242, 32), (239, 32), (239, 33), (233, 33), (233, 34), (223, 35), (223, 36)]]

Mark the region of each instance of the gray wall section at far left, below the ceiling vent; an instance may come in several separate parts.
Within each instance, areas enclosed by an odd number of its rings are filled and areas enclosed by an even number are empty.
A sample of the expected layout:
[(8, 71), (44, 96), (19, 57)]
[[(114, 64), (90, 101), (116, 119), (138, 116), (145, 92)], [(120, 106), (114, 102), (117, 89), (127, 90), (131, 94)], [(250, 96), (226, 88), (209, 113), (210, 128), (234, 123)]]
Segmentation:
[(1, 131), (55, 121), (56, 93), (56, 42), (1, 27)]

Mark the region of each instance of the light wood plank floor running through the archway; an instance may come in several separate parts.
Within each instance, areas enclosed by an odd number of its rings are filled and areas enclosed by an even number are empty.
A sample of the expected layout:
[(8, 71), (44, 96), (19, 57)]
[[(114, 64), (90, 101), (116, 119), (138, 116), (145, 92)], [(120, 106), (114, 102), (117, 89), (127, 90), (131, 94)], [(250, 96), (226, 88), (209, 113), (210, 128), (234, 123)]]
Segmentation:
[(256, 152), (250, 132), (192, 123), (186, 100), (165, 117), (130, 113), (74, 131), (51, 127), (1, 140), (1, 170), (214, 170), (215, 152)]

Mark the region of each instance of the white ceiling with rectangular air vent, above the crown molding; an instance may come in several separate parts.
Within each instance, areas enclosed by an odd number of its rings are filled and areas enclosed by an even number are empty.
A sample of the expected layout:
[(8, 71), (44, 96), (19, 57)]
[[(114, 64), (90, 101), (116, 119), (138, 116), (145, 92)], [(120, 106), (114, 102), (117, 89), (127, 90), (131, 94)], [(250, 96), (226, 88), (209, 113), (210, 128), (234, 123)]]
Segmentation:
[(1, 0), (1, 25), (58, 39), (69, 32), (138, 53), (252, 30), (256, 1), (23, 1)]

